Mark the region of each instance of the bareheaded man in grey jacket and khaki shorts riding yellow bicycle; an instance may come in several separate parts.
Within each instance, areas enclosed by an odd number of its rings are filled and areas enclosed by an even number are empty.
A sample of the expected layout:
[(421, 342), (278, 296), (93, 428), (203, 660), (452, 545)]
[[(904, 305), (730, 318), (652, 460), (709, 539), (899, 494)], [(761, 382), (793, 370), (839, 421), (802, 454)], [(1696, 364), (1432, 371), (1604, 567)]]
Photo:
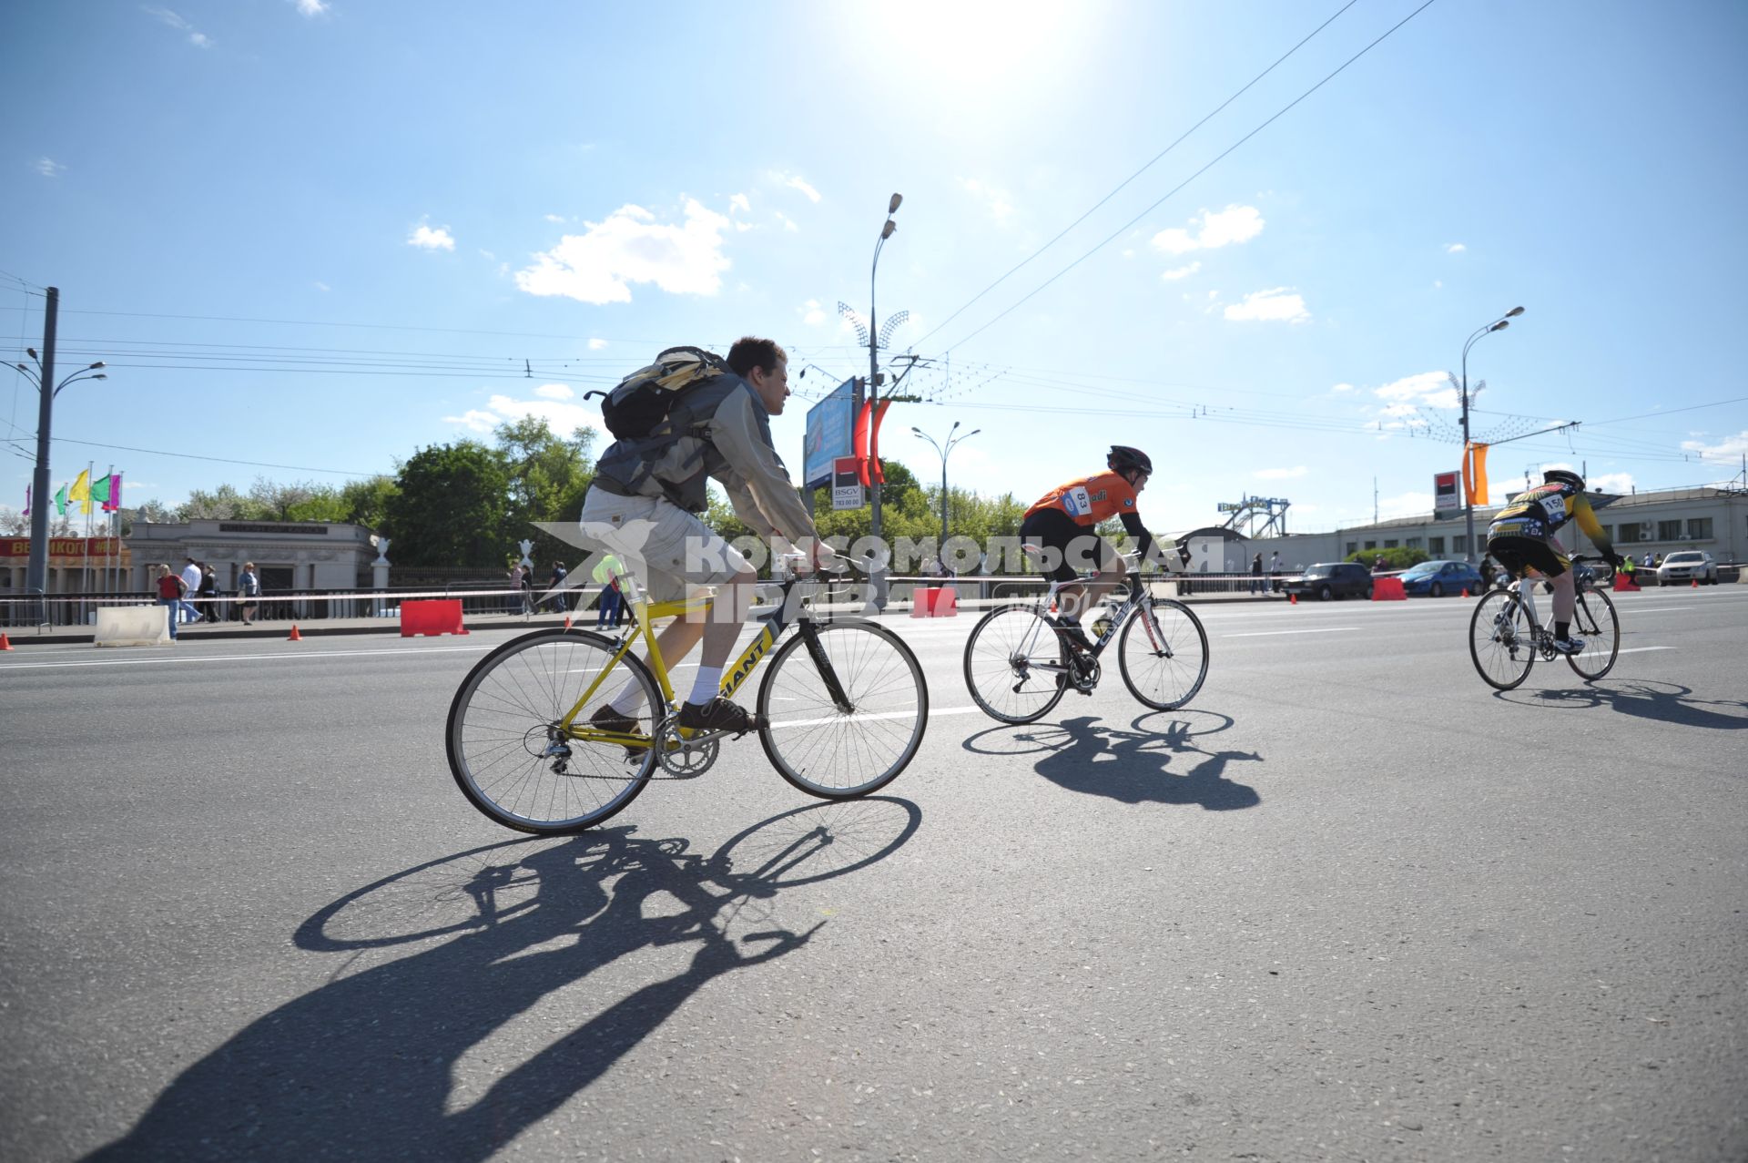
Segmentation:
[[(657, 435), (615, 441), (596, 462), (594, 483), (582, 504), (582, 533), (629, 563), (652, 602), (680, 602), (689, 589), (720, 586), (706, 619), (676, 617), (656, 637), (671, 668), (699, 638), (697, 680), (680, 707), (680, 726), (694, 731), (759, 728), (757, 715), (724, 698), (722, 670), (753, 602), (757, 575), (734, 546), (697, 514), (708, 507), (706, 481), (729, 493), (736, 516), (760, 537), (785, 537), (809, 551), (815, 563), (830, 554), (813, 518), (788, 479), (771, 442), (771, 416), (788, 399), (788, 353), (752, 336), (729, 348), (729, 369), (687, 388), (683, 420)], [(633, 733), (643, 689), (629, 680), (591, 722), (605, 731)]]

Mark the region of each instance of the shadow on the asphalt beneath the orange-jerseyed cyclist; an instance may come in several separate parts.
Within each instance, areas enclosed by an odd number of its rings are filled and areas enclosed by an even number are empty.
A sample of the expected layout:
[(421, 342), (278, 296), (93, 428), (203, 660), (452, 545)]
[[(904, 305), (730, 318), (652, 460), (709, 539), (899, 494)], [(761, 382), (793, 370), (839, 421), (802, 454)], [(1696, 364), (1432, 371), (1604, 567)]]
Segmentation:
[[(991, 728), (968, 750), (1040, 754), (1038, 775), (1058, 787), (1122, 803), (1199, 804), (1206, 811), (1255, 808), (1257, 789), (1227, 778), (1232, 763), (1262, 763), (1257, 752), (1208, 750), (1197, 740), (1232, 726), (1231, 715), (1173, 710), (1141, 715), (1129, 729), (1092, 715), (1023, 728)], [(1197, 763), (1194, 757), (1199, 756)]]

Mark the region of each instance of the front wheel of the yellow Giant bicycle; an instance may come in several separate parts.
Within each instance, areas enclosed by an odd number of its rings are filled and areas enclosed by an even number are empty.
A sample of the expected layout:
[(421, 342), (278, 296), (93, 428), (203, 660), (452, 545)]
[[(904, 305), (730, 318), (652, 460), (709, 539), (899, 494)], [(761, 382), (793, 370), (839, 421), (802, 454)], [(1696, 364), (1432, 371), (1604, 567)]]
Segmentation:
[(898, 635), (872, 623), (813, 623), (778, 647), (759, 687), (759, 742), (778, 773), (820, 799), (855, 799), (898, 778), (923, 745), (928, 684)]

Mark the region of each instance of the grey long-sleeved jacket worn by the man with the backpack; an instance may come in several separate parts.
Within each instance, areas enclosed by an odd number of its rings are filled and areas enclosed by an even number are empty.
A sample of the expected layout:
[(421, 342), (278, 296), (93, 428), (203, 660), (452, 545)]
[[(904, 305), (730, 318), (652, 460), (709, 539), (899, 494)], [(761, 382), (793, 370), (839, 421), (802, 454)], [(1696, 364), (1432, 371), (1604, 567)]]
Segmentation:
[(615, 493), (666, 497), (689, 512), (710, 507), (706, 481), (715, 477), (734, 516), (760, 537), (818, 537), (771, 442), (771, 413), (739, 376), (690, 388), (649, 437), (608, 446), (594, 472)]

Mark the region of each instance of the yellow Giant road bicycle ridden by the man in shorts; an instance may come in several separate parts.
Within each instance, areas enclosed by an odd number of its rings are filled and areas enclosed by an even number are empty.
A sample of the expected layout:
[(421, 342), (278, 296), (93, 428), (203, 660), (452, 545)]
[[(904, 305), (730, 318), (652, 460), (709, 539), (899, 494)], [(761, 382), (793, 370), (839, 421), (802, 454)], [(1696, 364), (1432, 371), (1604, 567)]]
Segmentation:
[[(769, 659), (755, 710), (759, 742), (778, 773), (822, 799), (855, 799), (904, 771), (928, 726), (928, 684), (893, 631), (862, 617), (815, 617), (816, 582), (780, 584), (781, 600), (722, 675), (732, 696)], [(580, 832), (614, 817), (652, 778), (696, 778), (717, 761), (722, 731), (678, 724), (662, 617), (706, 616), (710, 598), (631, 598), (622, 637), (537, 630), (479, 661), (449, 705), (449, 770), (482, 813), (523, 832)], [(783, 640), (790, 628), (795, 633)], [(649, 665), (631, 649), (649, 647)], [(780, 644), (781, 640), (781, 644)], [(628, 684), (642, 694), (631, 729), (591, 722)]]

